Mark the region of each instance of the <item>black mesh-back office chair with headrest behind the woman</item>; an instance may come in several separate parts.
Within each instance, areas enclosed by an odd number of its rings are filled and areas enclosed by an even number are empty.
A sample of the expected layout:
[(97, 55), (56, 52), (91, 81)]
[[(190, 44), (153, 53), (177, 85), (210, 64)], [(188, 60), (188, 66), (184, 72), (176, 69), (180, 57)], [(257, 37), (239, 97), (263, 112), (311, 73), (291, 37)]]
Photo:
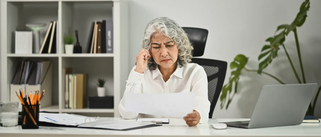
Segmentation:
[(208, 100), (211, 103), (209, 118), (212, 118), (215, 105), (220, 96), (227, 70), (227, 62), (215, 59), (195, 58), (204, 54), (208, 30), (194, 27), (183, 27), (193, 45), (192, 63), (201, 65), (207, 75)]

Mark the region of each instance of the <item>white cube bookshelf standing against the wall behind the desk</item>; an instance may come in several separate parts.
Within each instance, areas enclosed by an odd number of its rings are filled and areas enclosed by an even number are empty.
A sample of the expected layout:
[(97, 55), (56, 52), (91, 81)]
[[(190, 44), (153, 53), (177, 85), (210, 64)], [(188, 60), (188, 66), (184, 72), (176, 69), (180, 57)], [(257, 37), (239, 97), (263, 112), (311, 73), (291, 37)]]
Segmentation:
[[(108, 113), (120, 117), (118, 104), (122, 98), (129, 74), (128, 69), (128, 2), (125, 0), (1, 0), (1, 100), (10, 99), (10, 84), (14, 71), (23, 59), (52, 61), (52, 106), (40, 111), (59, 113)], [(90, 54), (87, 41), (91, 22), (113, 18), (113, 53)], [(27, 29), (27, 23), (47, 23), (41, 29), (42, 43), (48, 24), (58, 20), (58, 43), (56, 54), (15, 54), (14, 31)], [(64, 36), (78, 30), (82, 54), (65, 54)], [(75, 44), (75, 42), (74, 42)], [(97, 95), (95, 82), (104, 78), (107, 91), (114, 95), (113, 109), (65, 109), (65, 67), (73, 73), (88, 76), (88, 96)], [(14, 95), (16, 96), (16, 95)]]

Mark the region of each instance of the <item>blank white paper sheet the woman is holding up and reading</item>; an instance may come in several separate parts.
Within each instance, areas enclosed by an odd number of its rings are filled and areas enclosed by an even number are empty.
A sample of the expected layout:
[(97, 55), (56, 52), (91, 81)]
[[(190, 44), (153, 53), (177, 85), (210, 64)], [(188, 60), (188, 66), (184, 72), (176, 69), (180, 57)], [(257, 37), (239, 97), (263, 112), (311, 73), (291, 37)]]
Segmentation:
[(193, 113), (195, 93), (126, 93), (125, 110), (156, 116), (183, 118)]

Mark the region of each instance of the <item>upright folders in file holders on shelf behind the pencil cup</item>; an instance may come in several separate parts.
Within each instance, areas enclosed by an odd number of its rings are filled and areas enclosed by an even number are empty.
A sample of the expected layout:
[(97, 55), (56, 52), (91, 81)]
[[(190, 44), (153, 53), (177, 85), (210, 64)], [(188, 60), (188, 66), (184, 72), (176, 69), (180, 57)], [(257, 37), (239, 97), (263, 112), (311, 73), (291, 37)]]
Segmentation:
[[(52, 62), (49, 60), (41, 62), (23, 60), (21, 65), (17, 67), (10, 84), (10, 101), (20, 101), (15, 93), (20, 90), (33, 94), (35, 91), (42, 91), (43, 89), (46, 90), (46, 96), (41, 101), (39, 108), (52, 105)], [(22, 105), (19, 103), (19, 110), (21, 109)]]

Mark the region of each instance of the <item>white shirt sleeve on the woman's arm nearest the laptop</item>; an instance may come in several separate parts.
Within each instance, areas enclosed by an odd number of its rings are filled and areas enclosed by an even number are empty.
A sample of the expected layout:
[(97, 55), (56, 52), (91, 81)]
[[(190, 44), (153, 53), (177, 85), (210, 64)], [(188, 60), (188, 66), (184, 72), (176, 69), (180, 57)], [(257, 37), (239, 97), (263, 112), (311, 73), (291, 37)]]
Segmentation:
[(211, 106), (208, 100), (207, 75), (203, 67), (198, 72), (194, 77), (195, 80), (193, 80), (193, 88), (191, 90), (191, 92), (195, 92), (194, 110), (201, 116), (199, 123), (207, 123)]

